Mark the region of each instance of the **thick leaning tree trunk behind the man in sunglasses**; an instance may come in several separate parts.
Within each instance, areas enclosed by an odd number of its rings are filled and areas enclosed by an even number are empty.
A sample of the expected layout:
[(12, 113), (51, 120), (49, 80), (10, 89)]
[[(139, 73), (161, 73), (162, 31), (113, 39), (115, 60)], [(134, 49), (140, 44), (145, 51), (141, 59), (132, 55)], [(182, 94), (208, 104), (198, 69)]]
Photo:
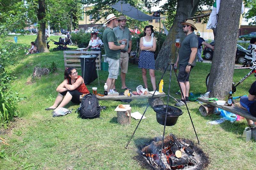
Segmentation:
[(172, 60), (172, 62), (176, 62), (175, 58), (178, 55), (178, 49), (174, 46), (175, 39), (179, 38), (181, 42), (185, 38), (185, 34), (180, 23), (184, 22), (186, 18), (194, 16), (198, 5), (199, 0), (178, 0), (176, 16), (172, 27), (156, 58), (157, 70), (163, 70), (167, 66), (167, 63), (170, 63)]

